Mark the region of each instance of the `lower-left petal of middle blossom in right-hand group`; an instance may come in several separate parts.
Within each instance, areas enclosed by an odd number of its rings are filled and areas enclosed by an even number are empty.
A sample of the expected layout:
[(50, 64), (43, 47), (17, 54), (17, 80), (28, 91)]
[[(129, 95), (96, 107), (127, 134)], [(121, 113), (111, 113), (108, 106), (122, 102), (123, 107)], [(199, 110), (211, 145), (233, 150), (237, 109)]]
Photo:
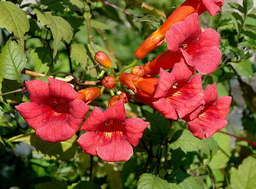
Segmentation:
[(167, 119), (176, 120), (178, 118), (175, 108), (166, 102), (164, 98), (160, 98), (157, 102), (153, 102), (153, 106)]

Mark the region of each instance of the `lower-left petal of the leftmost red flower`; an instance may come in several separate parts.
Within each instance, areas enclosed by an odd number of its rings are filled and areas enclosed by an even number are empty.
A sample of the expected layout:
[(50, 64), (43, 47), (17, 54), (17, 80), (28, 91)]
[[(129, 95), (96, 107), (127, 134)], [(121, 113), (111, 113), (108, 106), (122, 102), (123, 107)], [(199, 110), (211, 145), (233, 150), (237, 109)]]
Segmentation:
[(27, 124), (32, 129), (37, 130), (44, 125), (45, 117), (44, 111), (41, 106), (38, 106), (35, 102), (24, 102), (18, 106), (15, 106), (20, 115), (25, 119)]

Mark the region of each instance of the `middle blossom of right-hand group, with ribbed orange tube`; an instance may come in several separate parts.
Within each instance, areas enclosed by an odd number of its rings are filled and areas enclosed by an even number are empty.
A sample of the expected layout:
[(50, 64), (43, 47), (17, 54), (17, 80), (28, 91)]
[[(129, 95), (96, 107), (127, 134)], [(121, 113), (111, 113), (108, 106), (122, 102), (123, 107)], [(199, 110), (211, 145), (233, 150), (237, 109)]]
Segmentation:
[(200, 74), (189, 81), (191, 75), (191, 71), (181, 60), (174, 65), (171, 73), (161, 69), (159, 78), (141, 78), (122, 73), (119, 80), (137, 94), (135, 100), (152, 104), (168, 119), (177, 119), (191, 113), (203, 102)]

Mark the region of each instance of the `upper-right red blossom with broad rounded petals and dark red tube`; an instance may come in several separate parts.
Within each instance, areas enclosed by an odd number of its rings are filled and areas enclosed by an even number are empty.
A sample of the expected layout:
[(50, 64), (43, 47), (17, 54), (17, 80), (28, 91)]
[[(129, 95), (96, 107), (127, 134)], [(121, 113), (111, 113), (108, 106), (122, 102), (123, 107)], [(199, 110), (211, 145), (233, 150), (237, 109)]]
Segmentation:
[[(144, 65), (147, 73), (143, 77), (154, 77), (160, 68), (172, 69), (181, 59), (186, 61), (191, 71), (210, 74), (216, 70), (221, 60), (219, 50), (220, 34), (208, 28), (203, 33), (198, 14), (194, 13), (183, 21), (175, 23), (166, 32), (168, 51)], [(199, 36), (199, 39), (197, 39)]]

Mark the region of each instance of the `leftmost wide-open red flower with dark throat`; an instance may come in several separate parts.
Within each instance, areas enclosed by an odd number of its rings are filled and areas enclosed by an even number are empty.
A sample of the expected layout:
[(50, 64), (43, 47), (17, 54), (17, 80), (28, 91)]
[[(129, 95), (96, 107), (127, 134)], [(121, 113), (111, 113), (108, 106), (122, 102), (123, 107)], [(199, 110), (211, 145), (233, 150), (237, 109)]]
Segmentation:
[(66, 141), (78, 131), (89, 107), (77, 100), (78, 92), (66, 82), (48, 80), (49, 84), (41, 80), (26, 82), (30, 102), (16, 109), (42, 140)]

